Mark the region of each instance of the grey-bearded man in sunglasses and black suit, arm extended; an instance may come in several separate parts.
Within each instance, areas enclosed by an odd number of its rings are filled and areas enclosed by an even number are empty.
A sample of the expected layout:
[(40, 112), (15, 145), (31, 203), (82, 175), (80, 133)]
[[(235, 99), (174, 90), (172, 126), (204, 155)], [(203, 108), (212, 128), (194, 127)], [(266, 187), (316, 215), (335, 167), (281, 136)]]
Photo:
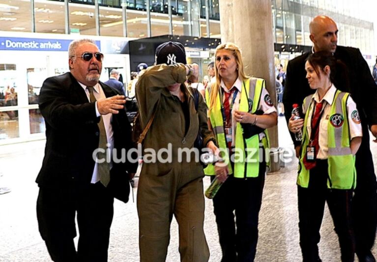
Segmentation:
[[(46, 79), (39, 95), (47, 138), (36, 179), (39, 232), (55, 262), (106, 262), (119, 186), (115, 178), (135, 172), (135, 164), (111, 160), (120, 159), (122, 148), (132, 147), (131, 126), (123, 109), (125, 97), (99, 82), (103, 54), (95, 43), (75, 40), (68, 53), (70, 72)], [(96, 153), (104, 145), (111, 150), (100, 163), (106, 155)], [(126, 202), (129, 184), (123, 180)]]

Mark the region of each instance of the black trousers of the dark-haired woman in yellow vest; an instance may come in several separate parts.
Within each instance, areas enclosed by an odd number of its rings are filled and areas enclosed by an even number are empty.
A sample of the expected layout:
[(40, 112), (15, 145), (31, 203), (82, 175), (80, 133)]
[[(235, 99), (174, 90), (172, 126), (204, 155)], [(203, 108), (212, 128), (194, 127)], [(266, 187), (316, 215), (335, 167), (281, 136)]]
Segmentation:
[(310, 170), (309, 186), (297, 186), (300, 246), (303, 262), (320, 261), (318, 243), (324, 204), (327, 202), (338, 234), (342, 262), (353, 262), (355, 240), (352, 229), (352, 190), (327, 188), (327, 160), (317, 160)]

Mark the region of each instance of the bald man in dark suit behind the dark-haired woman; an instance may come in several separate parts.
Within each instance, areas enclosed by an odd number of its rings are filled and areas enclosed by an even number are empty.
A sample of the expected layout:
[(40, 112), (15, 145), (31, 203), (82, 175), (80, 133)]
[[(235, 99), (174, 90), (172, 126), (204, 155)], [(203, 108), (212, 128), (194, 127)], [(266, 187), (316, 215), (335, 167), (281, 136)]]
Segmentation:
[[(368, 64), (359, 49), (337, 46), (338, 28), (327, 16), (317, 16), (310, 23), (310, 39), (313, 42), (312, 52), (329, 51), (340, 59), (348, 68), (347, 72), (336, 74), (336, 87), (349, 92), (356, 102), (363, 128), (363, 138), (356, 153), (357, 185), (353, 198), (353, 220), (356, 239), (356, 254), (360, 262), (375, 261), (371, 253), (376, 236), (377, 225), (377, 183), (373, 159), (369, 145), (369, 131), (377, 136), (377, 86), (372, 78)], [(287, 66), (286, 87), (283, 97), (287, 121), (291, 117), (292, 105), (301, 105), (303, 99), (315, 92), (309, 87), (306, 79), (305, 60), (312, 53), (290, 60)], [(348, 83), (348, 85), (346, 85)], [(347, 91), (347, 90), (344, 90)], [(296, 142), (296, 154), (301, 142)], [(319, 239), (318, 239), (319, 241)]]

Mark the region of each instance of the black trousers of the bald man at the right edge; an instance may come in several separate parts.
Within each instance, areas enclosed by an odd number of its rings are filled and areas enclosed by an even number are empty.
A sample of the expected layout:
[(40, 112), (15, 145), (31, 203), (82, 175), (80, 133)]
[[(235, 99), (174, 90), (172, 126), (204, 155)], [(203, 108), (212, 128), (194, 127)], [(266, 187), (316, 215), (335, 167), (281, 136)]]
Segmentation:
[(357, 184), (352, 200), (352, 218), (356, 254), (360, 262), (364, 262), (375, 243), (377, 226), (377, 182), (366, 125), (363, 125), (363, 138), (356, 153), (355, 167)]

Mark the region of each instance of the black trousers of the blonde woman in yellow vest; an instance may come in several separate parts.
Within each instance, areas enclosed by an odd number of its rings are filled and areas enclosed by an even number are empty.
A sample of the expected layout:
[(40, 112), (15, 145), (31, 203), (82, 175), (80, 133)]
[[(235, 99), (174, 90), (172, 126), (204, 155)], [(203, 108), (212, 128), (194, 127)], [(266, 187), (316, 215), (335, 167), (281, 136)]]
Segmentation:
[(265, 171), (266, 167), (263, 162), (260, 164), (258, 177), (234, 178), (229, 176), (213, 198), (213, 208), (223, 253), (221, 262), (254, 261)]

